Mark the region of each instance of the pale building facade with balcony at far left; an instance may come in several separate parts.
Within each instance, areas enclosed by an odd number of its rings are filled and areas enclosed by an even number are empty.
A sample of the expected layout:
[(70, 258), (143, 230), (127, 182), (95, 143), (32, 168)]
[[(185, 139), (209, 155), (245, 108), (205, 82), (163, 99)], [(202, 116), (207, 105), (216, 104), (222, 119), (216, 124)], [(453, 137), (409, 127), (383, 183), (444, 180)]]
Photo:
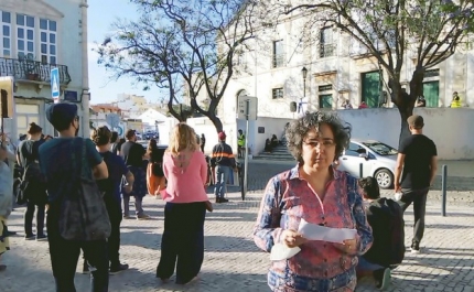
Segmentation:
[(12, 76), (14, 85), (14, 115), (4, 121), (12, 141), (31, 122), (54, 134), (45, 109), (53, 102), (55, 67), (62, 102), (77, 104), (82, 133), (88, 136), (87, 7), (87, 0), (0, 1), (0, 76)]

